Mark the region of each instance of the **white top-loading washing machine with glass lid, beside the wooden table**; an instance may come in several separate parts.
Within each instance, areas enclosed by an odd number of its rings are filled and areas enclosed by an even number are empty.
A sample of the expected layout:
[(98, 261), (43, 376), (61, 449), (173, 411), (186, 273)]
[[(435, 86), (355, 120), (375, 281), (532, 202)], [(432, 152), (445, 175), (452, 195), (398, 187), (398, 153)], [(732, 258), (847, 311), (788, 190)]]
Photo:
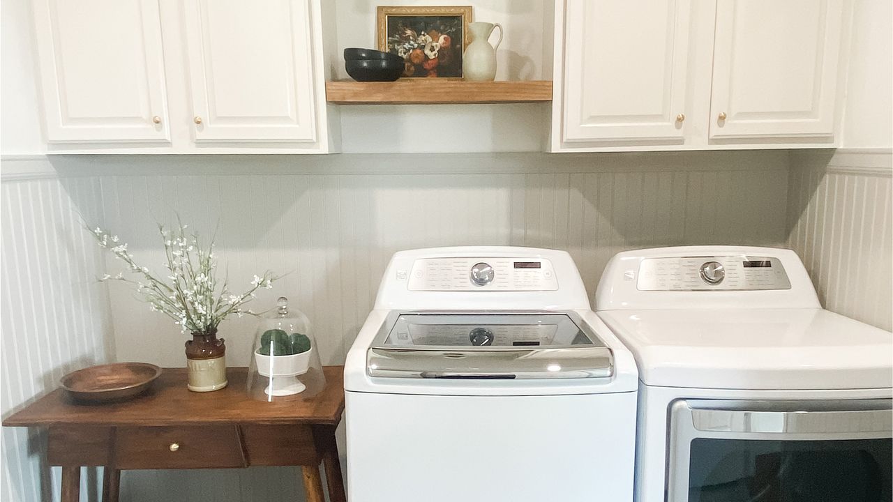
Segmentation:
[(350, 500), (631, 501), (637, 389), (567, 253), (396, 253), (345, 364)]

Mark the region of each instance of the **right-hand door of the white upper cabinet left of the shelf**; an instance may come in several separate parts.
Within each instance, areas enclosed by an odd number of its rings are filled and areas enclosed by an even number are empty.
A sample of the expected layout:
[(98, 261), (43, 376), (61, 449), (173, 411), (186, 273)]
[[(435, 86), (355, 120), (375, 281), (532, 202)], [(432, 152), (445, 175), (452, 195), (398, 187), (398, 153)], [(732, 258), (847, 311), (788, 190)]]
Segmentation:
[(186, 2), (196, 142), (314, 140), (308, 4)]

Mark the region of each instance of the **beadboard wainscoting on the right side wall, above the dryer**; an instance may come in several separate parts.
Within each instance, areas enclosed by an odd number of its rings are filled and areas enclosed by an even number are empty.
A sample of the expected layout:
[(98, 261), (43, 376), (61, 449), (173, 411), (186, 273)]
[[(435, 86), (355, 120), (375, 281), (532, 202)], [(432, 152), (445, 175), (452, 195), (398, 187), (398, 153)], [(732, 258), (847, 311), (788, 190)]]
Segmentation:
[(788, 246), (829, 310), (893, 329), (893, 155), (791, 155)]

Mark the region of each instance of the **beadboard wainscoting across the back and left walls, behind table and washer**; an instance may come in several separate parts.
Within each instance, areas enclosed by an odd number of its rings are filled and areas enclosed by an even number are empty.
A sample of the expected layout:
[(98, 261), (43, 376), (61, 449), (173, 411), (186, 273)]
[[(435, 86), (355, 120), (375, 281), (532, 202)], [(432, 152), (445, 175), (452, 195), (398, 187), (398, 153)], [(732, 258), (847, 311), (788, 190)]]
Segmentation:
[[(607, 260), (624, 249), (782, 246), (788, 237), (783, 151), (53, 156), (4, 159), (3, 180), (4, 278), (19, 278), (4, 279), (4, 347), (25, 343), (21, 333), (48, 338), (4, 350), (5, 385), (27, 387), (4, 391), (4, 416), (76, 366), (105, 358), (184, 363), (186, 336), (171, 320), (123, 284), (95, 284), (121, 265), (98, 258), (79, 216), (114, 230), (154, 271), (163, 264), (156, 222), (179, 213), (205, 236), (216, 229), (232, 284), (247, 285), (268, 268), (288, 273), (254, 308), (289, 297), (313, 322), (324, 364), (344, 362), (400, 249), (566, 249), (592, 293)], [(254, 329), (248, 317), (221, 325), (229, 364), (248, 363)], [(4, 434), (5, 495), (52, 500), (38, 446), (25, 431)], [(133, 471), (121, 477), (121, 499), (294, 500), (300, 486), (289, 468)], [(36, 496), (41, 489), (44, 497)]]

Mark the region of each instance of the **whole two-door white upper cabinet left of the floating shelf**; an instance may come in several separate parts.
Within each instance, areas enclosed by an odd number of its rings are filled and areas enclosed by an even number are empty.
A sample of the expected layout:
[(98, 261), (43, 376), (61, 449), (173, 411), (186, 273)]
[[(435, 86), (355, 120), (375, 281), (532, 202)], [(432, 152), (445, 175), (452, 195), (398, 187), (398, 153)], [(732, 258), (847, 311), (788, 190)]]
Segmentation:
[(36, 0), (48, 149), (329, 153), (338, 135), (322, 26), (332, 9), (329, 0)]

